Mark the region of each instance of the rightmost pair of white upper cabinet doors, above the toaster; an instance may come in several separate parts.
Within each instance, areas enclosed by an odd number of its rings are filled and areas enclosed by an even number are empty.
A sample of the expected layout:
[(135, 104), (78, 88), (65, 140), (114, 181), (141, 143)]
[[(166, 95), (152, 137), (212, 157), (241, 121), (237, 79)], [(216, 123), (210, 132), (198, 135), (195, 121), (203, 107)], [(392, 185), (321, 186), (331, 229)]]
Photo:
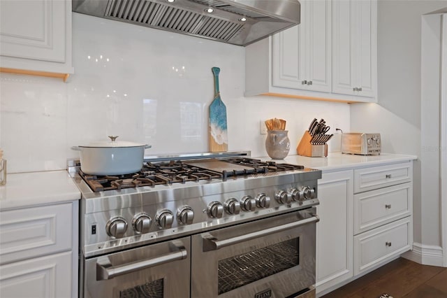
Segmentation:
[(334, 0), (332, 92), (376, 97), (377, 2)]

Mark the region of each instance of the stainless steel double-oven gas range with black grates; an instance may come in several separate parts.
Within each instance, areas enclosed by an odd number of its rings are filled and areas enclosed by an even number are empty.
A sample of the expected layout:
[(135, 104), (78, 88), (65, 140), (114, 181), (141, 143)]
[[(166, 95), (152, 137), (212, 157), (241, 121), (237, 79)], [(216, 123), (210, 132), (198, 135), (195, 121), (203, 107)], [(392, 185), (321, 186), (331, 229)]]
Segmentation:
[(314, 297), (321, 171), (249, 152), (79, 168), (81, 297)]

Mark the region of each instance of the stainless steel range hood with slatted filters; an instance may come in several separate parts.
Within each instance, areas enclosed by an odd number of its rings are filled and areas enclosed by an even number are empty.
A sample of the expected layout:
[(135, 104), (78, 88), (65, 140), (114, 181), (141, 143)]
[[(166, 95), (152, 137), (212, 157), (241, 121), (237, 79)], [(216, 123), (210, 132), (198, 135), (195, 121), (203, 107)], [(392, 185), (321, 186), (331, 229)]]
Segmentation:
[(73, 11), (234, 45), (300, 23), (298, 0), (73, 0)]

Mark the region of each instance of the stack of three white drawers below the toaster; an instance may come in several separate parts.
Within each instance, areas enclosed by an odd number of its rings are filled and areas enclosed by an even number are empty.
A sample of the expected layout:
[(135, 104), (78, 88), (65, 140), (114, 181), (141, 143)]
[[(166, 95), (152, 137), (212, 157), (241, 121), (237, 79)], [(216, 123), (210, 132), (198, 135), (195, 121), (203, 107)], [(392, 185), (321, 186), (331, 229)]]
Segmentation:
[(355, 275), (411, 250), (412, 179), (412, 162), (354, 170)]

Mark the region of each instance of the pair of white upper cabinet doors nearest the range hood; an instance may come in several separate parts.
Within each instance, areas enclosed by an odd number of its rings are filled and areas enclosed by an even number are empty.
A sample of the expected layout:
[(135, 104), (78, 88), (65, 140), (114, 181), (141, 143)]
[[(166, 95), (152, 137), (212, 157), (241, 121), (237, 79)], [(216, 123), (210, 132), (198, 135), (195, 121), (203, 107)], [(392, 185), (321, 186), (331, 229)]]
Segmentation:
[(331, 91), (331, 1), (300, 1), (301, 24), (272, 38), (272, 85)]

